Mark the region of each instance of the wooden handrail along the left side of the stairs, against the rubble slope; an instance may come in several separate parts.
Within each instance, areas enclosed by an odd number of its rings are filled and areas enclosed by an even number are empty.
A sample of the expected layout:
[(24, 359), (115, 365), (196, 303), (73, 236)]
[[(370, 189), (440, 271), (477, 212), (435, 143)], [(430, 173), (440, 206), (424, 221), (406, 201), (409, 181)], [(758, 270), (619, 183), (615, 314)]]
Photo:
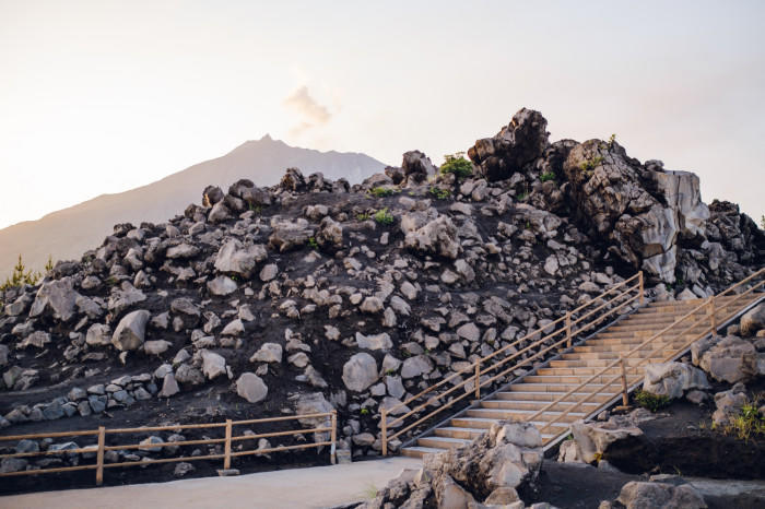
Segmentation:
[[(637, 283), (635, 285), (627, 286), (627, 285), (629, 285), (629, 283), (634, 282), (635, 280), (637, 280)], [(604, 297), (615, 293), (616, 291), (619, 291), (620, 288), (622, 288), (624, 286), (627, 286), (626, 289), (619, 293), (614, 297), (611, 297), (607, 300), (603, 300)], [(629, 293), (632, 293), (634, 291), (637, 291), (637, 293), (638, 293), (638, 295), (635, 295), (634, 297), (628, 298), (626, 301), (617, 305), (616, 307), (614, 307), (612, 309), (608, 309), (603, 315), (596, 317), (591, 321), (589, 321), (588, 323), (584, 324), (582, 327), (579, 327), (576, 330), (576, 334), (579, 334), (584, 331), (591, 329), (597, 323), (602, 322), (603, 319), (607, 318), (608, 316), (616, 312), (619, 309), (622, 309), (624, 306), (629, 305), (635, 300), (639, 299), (639, 304), (643, 304), (643, 301), (644, 301), (643, 289), (644, 289), (644, 280), (643, 280), (643, 272), (640, 271), (640, 272), (636, 273), (635, 275), (611, 286), (610, 288), (602, 292), (598, 296), (590, 298), (588, 301), (581, 304), (577, 308), (575, 308), (570, 311), (567, 311), (564, 316), (553, 320), (552, 322), (550, 322), (543, 327), (540, 327), (531, 332), (528, 332), (526, 335), (514, 340), (513, 342), (508, 343), (507, 345), (503, 346), (502, 348), (499, 348), (495, 352), (492, 352), (491, 354), (485, 355), (485, 356), (479, 358), (478, 360), (474, 360), (473, 363), (463, 367), (459, 371), (454, 372), (454, 374), (449, 375), (448, 377), (442, 379), (437, 383), (423, 389), (422, 391), (408, 398), (407, 400), (401, 401), (400, 403), (398, 403), (389, 409), (380, 410), (380, 430), (381, 430), (381, 436), (382, 436), (382, 455), (387, 454), (388, 442), (390, 440), (393, 440), (395, 438), (401, 436), (403, 433), (407, 433), (408, 430), (412, 429), (413, 427), (417, 426), (419, 424), (429, 419), (435, 414), (443, 412), (444, 410), (452, 406), (455, 403), (466, 399), (471, 393), (478, 400), (481, 396), (481, 388), (482, 387), (489, 386), (489, 384), (493, 383), (494, 381), (498, 380), (499, 378), (507, 376), (507, 374), (509, 374), (510, 371), (515, 371), (516, 369), (520, 368), (521, 366), (526, 366), (529, 363), (539, 359), (540, 357), (545, 355), (551, 350), (560, 348), (563, 345), (563, 343), (567, 343), (567, 345), (570, 346), (572, 335), (574, 333), (573, 329), (575, 325), (582, 323), (585, 320), (587, 320), (590, 317), (593, 317), (599, 311), (602, 311), (603, 309), (612, 306), (613, 303), (623, 298), (625, 295), (629, 295)], [(580, 311), (586, 310), (586, 309), (592, 307), (593, 305), (595, 305), (593, 309), (589, 309), (584, 316), (578, 317), (575, 320), (572, 320), (573, 315), (579, 313)], [(564, 323), (564, 325), (558, 329), (556, 325), (561, 324), (562, 322)], [(550, 330), (552, 330), (552, 332), (550, 332), (550, 333), (545, 332), (545, 331), (550, 331)], [(563, 334), (563, 333), (565, 333), (565, 336), (563, 340), (558, 340), (556, 342), (553, 342), (553, 344), (550, 346), (546, 346), (542, 350), (538, 350), (540, 346), (543, 346), (544, 343), (548, 342), (549, 340), (553, 339), (554, 336), (556, 336), (558, 334)], [(517, 346), (522, 345), (529, 339), (534, 338), (537, 335), (541, 335), (541, 339), (532, 341), (531, 344), (523, 346), (519, 351), (513, 352), (510, 355), (506, 355), (501, 360), (496, 360), (493, 364), (491, 364), (490, 366), (482, 369), (482, 365), (484, 365), (489, 360), (492, 360), (495, 357), (507, 353), (510, 348), (516, 348)], [(534, 351), (534, 350), (537, 350), (537, 352), (533, 355), (531, 355), (525, 359), (521, 359), (518, 363), (513, 364), (511, 366), (509, 366), (508, 368), (506, 368), (502, 372), (494, 375), (494, 376), (490, 377), (489, 379), (481, 380), (481, 375), (486, 375), (490, 371), (494, 371), (494, 370), (498, 369), (499, 367), (505, 366), (506, 364), (510, 363), (511, 360), (518, 358), (519, 356), (526, 354), (527, 352)], [(466, 374), (470, 374), (469, 378), (462, 379), (461, 377)], [(388, 421), (388, 415), (390, 415), (391, 413), (398, 411), (399, 409), (407, 407), (412, 402), (420, 400), (424, 395), (435, 391), (436, 389), (443, 387), (444, 384), (446, 384), (450, 381), (456, 381), (456, 380), (459, 380), (459, 381), (457, 381), (457, 383), (455, 383), (452, 387), (450, 387), (446, 391), (433, 394), (425, 402), (420, 403), (416, 406), (413, 406), (412, 409), (409, 409), (408, 412), (403, 413), (402, 415), (397, 416), (392, 421), (390, 421), (390, 422)], [(473, 383), (473, 390), (471, 392), (469, 392), (469, 391), (467, 391), (467, 384), (470, 383), (471, 381)], [(454, 393), (455, 391), (457, 391), (461, 388), (466, 388), (464, 389), (466, 392), (463, 394), (461, 394), (457, 398), (452, 398), (447, 404), (439, 405), (437, 409), (427, 413), (425, 416), (417, 418), (414, 423), (410, 424), (409, 426), (405, 426), (402, 429), (399, 429), (398, 431), (396, 431), (392, 435), (388, 435), (388, 429), (390, 427), (395, 427), (397, 425), (400, 425), (408, 417), (416, 414), (417, 412), (420, 412), (420, 411), (424, 410), (426, 406), (428, 406), (432, 403), (432, 401), (442, 400), (443, 398)]]

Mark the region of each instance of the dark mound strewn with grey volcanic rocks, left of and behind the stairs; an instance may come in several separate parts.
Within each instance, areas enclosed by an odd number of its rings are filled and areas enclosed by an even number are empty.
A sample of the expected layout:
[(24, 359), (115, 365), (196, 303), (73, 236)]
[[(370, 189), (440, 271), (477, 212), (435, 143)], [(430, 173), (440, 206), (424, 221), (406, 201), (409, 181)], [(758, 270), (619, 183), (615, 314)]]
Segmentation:
[(352, 187), (290, 168), (116, 225), (2, 295), (2, 433), (334, 407), (342, 448), (375, 455), (380, 407), (637, 270), (673, 299), (763, 267), (765, 234), (695, 175), (545, 128), (521, 109), (471, 176), (414, 151)]

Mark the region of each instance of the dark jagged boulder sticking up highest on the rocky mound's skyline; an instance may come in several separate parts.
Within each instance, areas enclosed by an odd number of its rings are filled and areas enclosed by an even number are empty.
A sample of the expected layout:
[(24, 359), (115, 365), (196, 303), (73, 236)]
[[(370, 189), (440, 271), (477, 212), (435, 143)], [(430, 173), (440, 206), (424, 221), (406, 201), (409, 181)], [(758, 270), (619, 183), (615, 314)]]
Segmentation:
[(522, 108), (494, 138), (478, 140), (468, 157), (487, 180), (504, 180), (540, 157), (549, 145), (548, 121), (542, 114)]

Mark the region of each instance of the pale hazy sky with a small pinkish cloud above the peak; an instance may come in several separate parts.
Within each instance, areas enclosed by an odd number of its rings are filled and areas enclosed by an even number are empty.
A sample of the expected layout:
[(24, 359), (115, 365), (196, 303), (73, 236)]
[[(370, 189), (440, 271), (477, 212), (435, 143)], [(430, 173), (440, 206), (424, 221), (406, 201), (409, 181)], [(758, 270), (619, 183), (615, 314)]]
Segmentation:
[(439, 164), (522, 106), (758, 220), (764, 21), (762, 1), (0, 0), (0, 227), (267, 132)]

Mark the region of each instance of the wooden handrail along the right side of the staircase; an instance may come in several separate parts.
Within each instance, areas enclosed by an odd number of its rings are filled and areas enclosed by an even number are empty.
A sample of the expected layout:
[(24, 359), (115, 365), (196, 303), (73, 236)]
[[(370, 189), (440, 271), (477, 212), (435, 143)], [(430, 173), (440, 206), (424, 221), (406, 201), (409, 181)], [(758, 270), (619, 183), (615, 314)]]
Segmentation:
[[(749, 281), (752, 281), (753, 279), (755, 279), (755, 277), (757, 277), (757, 276), (760, 276), (760, 275), (763, 275), (763, 274), (765, 274), (765, 268), (758, 270), (757, 272), (753, 273), (753, 274), (750, 275), (749, 277), (746, 277), (746, 279), (740, 281), (739, 283), (737, 283), (737, 284), (730, 286), (729, 288), (727, 288), (726, 291), (721, 292), (720, 294), (718, 294), (717, 298), (719, 299), (719, 297), (723, 296), (725, 294), (731, 292), (731, 291), (734, 289), (734, 288), (738, 288), (739, 286), (743, 285), (744, 283), (746, 283), (746, 282), (749, 282)], [(765, 284), (765, 281), (761, 281), (761, 282), (757, 283), (756, 285), (750, 287), (746, 292), (744, 292), (744, 293), (742, 293), (742, 294), (739, 294), (733, 300), (731, 300), (731, 303), (734, 303), (734, 301), (737, 301), (737, 300), (743, 298), (745, 295), (749, 295), (750, 293), (754, 292), (754, 289), (756, 289), (757, 287), (762, 286), (763, 284)], [(698, 306), (696, 306), (695, 308), (693, 308), (693, 310), (691, 310), (691, 311), (686, 312), (685, 315), (683, 315), (682, 317), (675, 319), (675, 321), (672, 322), (670, 325), (666, 327), (666, 328), (662, 329), (661, 331), (659, 331), (659, 332), (657, 332), (656, 334), (654, 334), (652, 336), (650, 336), (648, 340), (646, 340), (646, 341), (644, 341), (643, 343), (640, 343), (639, 345), (635, 346), (633, 350), (631, 350), (629, 352), (627, 352), (626, 354), (624, 354), (624, 356), (631, 356), (632, 354), (634, 354), (634, 353), (636, 353), (636, 352), (643, 350), (644, 346), (648, 345), (649, 343), (652, 343), (652, 342), (656, 341), (658, 338), (662, 336), (666, 332), (668, 332), (668, 331), (674, 329), (674, 328), (678, 327), (680, 323), (682, 323), (682, 322), (684, 322), (685, 320), (687, 320), (690, 317), (692, 317), (692, 316), (698, 313), (699, 311), (703, 311), (705, 307), (709, 307), (709, 306), (711, 305), (711, 309), (713, 309), (713, 310), (711, 310), (710, 316), (707, 316), (707, 315), (705, 313), (704, 316), (698, 317), (695, 321), (693, 321), (693, 322), (691, 323), (691, 325), (686, 327), (682, 332), (680, 332), (680, 333), (676, 334), (676, 336), (678, 336), (680, 340), (682, 340), (682, 338), (683, 338), (683, 335), (684, 335), (684, 333), (685, 333), (686, 331), (688, 331), (688, 330), (691, 330), (691, 329), (697, 327), (697, 325), (698, 325), (699, 323), (702, 323), (705, 319), (709, 319), (709, 320), (710, 320), (709, 327), (704, 328), (704, 329), (703, 329), (703, 332), (702, 332), (701, 334), (697, 334), (697, 335), (693, 336), (692, 340), (686, 341), (685, 343), (683, 343), (683, 345), (682, 345), (680, 348), (675, 350), (672, 354), (670, 354), (669, 356), (666, 357), (666, 358), (668, 358), (668, 359), (669, 359), (669, 358), (673, 358), (679, 352), (684, 351), (684, 350), (687, 348), (691, 344), (693, 344), (695, 341), (698, 341), (698, 339), (704, 338), (705, 335), (707, 335), (707, 334), (709, 333), (709, 331), (711, 331), (713, 333), (716, 332), (716, 327), (717, 327), (716, 324), (717, 324), (717, 322), (716, 322), (715, 316), (716, 316), (717, 309), (716, 309), (716, 307), (715, 307), (715, 301), (716, 301), (716, 298), (715, 298), (715, 297), (710, 297), (708, 300), (706, 300), (706, 301), (699, 304)], [(722, 303), (721, 309), (725, 310), (726, 308), (731, 307), (731, 303)], [(732, 318), (733, 316), (735, 316), (735, 313), (739, 312), (739, 311), (740, 311), (740, 309), (737, 309), (737, 310), (732, 311), (732, 312), (729, 313), (729, 315), (727, 316), (727, 318), (726, 318), (725, 320), (722, 320), (722, 321), (727, 321), (729, 318)], [(651, 351), (648, 353), (648, 355), (643, 356), (643, 357), (640, 358), (640, 360), (637, 363), (637, 365), (631, 366), (631, 368), (639, 367), (639, 366), (642, 366), (643, 364), (648, 363), (649, 359), (651, 358), (651, 355), (652, 355), (654, 353), (656, 353), (656, 352), (661, 352), (661, 351), (664, 351), (664, 350), (666, 350), (666, 348), (663, 348), (663, 347), (657, 347), (657, 348), (651, 350)], [(588, 378), (587, 380), (585, 380), (585, 381), (584, 381), (582, 383), (580, 383), (579, 386), (577, 386), (577, 387), (575, 387), (574, 389), (569, 390), (569, 391), (566, 392), (565, 394), (558, 396), (556, 400), (552, 401), (551, 403), (549, 403), (548, 405), (543, 406), (542, 409), (540, 409), (538, 412), (536, 412), (536, 413), (532, 414), (531, 416), (527, 417), (526, 421), (527, 421), (527, 422), (531, 422), (531, 421), (538, 418), (540, 415), (544, 414), (548, 410), (552, 409), (553, 406), (555, 406), (556, 404), (558, 404), (560, 402), (562, 402), (563, 400), (566, 400), (566, 399), (567, 399), (568, 396), (570, 396), (572, 394), (574, 394), (574, 393), (581, 393), (581, 389), (584, 389), (585, 387), (587, 387), (591, 381), (593, 381), (593, 380), (597, 379), (598, 377), (604, 375), (609, 369), (612, 369), (614, 366), (616, 366), (617, 364), (620, 364), (621, 360), (622, 360), (622, 359), (620, 358), (620, 359), (616, 359), (616, 360), (614, 360), (614, 362), (608, 364), (604, 368), (602, 368), (600, 371), (598, 371), (598, 372), (596, 372), (595, 375), (592, 375), (590, 378)], [(614, 377), (614, 378), (612, 378), (611, 380), (609, 380), (608, 382), (605, 382), (605, 383), (604, 383), (604, 387), (608, 387), (608, 386), (611, 384), (613, 381), (617, 380), (620, 376), (621, 376), (621, 375), (617, 375), (616, 377)], [(600, 392), (598, 392), (598, 388), (595, 387), (592, 393), (590, 393), (590, 394), (589, 394), (587, 398), (585, 398), (585, 399), (578, 400), (576, 403), (578, 403), (578, 404), (586, 403), (586, 402), (589, 401), (591, 398), (593, 398), (593, 396), (596, 396), (596, 395), (598, 395), (598, 394), (600, 394)], [(558, 415), (557, 415), (555, 418), (553, 418), (552, 421), (546, 422), (546, 424), (545, 424), (544, 426), (542, 426), (542, 428), (540, 428), (540, 433), (544, 431), (544, 430), (548, 429), (550, 426), (552, 426), (553, 424), (560, 422), (563, 417), (565, 417), (566, 415), (568, 415), (568, 413), (570, 413), (570, 411), (572, 411), (573, 407), (574, 407), (574, 405), (572, 405), (572, 407), (569, 407), (569, 409), (566, 410), (565, 412), (558, 414)]]

